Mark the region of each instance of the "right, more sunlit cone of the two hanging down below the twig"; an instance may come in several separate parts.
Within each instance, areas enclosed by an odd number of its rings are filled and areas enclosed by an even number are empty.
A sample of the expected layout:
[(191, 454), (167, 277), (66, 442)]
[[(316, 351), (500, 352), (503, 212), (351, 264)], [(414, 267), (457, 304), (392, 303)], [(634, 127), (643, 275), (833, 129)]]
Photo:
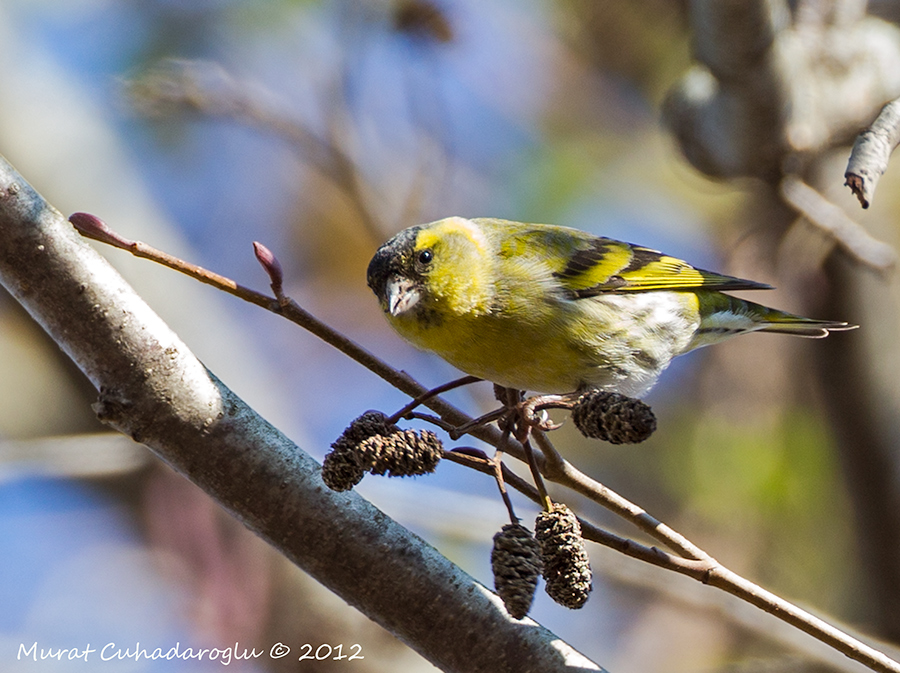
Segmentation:
[(572, 610), (583, 607), (593, 586), (578, 519), (568, 507), (555, 503), (551, 511), (538, 514), (534, 536), (541, 546), (547, 594)]

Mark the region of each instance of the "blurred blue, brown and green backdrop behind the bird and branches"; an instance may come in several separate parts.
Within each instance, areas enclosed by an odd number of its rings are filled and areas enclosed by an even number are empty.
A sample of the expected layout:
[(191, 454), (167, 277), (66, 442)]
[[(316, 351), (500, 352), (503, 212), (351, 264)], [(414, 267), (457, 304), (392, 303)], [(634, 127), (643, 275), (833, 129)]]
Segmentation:
[[(777, 285), (769, 305), (862, 324), (826, 342), (754, 335), (685, 356), (647, 399), (659, 418), (649, 442), (610, 446), (565, 427), (557, 446), (726, 566), (900, 642), (896, 279), (827, 261), (832, 243), (766, 185), (712, 181), (682, 158), (660, 109), (691, 65), (686, 4), (3, 0), (0, 152), (64, 214), (94, 213), (265, 291), (251, 247), (263, 242), (292, 297), (426, 385), (456, 372), (389, 330), (365, 268), (399, 229), (448, 215), (640, 243)], [(895, 2), (869, 9), (900, 15)], [(897, 178), (888, 172), (863, 212), (841, 186), (847, 155), (817, 160), (823, 191), (896, 244)], [(98, 249), (207, 366), (318, 459), (361, 412), (406, 401), (273, 315)], [(17, 652), (114, 642), (265, 652), (230, 664), (247, 671), (433, 670), (149, 451), (107, 434), (95, 398), (0, 296), (0, 667), (93, 670)], [(477, 414), (490, 386), (451, 399)], [(358, 489), (492, 584), (491, 537), (506, 511), (491, 480), (443, 464)], [(530, 525), (536, 510), (514, 500)], [(590, 551), (587, 606), (571, 612), (539, 590), (531, 615), (609, 670), (862, 670), (721, 592)], [(291, 655), (271, 659), (277, 643)], [(298, 661), (304, 643), (314, 654), (358, 643), (365, 659)]]

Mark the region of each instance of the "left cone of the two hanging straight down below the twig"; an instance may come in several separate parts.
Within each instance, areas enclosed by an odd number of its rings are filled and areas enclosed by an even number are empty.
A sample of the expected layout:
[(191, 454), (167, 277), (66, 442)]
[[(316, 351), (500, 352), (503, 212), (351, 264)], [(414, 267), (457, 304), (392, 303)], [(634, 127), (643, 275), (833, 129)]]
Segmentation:
[(525, 526), (508, 523), (494, 535), (491, 568), (494, 588), (506, 611), (522, 619), (531, 609), (541, 574), (540, 546)]

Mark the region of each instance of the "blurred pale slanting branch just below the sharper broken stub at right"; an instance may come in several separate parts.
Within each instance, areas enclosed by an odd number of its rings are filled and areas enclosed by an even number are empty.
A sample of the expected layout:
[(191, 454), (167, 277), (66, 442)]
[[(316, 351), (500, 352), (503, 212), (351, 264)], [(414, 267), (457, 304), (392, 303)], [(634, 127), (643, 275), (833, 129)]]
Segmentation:
[(897, 251), (892, 246), (874, 238), (842, 208), (797, 176), (788, 175), (781, 181), (781, 196), (861, 264), (885, 271), (897, 263)]

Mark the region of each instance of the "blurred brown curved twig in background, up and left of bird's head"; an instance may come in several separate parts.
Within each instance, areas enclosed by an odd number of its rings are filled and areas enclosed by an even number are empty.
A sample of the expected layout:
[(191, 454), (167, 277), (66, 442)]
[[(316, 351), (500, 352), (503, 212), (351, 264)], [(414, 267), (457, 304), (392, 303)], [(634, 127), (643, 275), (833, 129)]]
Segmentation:
[(356, 210), (373, 241), (384, 238), (368, 203), (374, 188), (365, 180), (340, 138), (343, 115), (328, 114), (328, 138), (322, 138), (284, 110), (289, 105), (259, 85), (243, 82), (214, 63), (170, 61), (129, 83), (135, 108), (146, 116), (192, 111), (221, 117), (274, 133), (287, 140), (302, 161), (326, 176)]

